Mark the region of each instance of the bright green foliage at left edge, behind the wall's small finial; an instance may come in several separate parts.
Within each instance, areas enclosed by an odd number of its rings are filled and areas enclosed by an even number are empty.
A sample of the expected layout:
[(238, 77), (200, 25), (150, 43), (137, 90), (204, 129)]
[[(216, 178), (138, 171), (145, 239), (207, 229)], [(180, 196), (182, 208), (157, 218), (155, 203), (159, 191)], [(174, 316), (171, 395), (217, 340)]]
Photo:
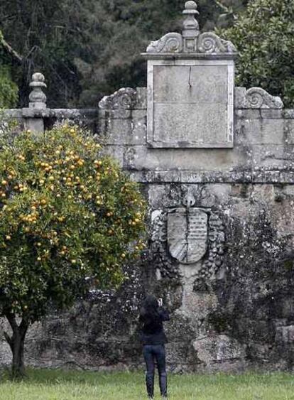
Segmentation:
[(0, 108), (14, 107), (18, 100), (18, 87), (11, 80), (11, 72), (9, 65), (3, 63), (3, 48), (1, 42), (3, 35), (0, 31)]

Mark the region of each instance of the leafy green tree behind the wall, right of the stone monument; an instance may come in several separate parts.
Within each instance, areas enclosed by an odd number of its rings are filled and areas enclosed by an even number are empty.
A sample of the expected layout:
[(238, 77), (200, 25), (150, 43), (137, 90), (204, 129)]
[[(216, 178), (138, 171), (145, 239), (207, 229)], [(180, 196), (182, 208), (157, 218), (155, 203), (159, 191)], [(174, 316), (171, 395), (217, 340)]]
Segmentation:
[(219, 34), (236, 45), (237, 83), (263, 87), (294, 106), (294, 2), (251, 0), (235, 25)]

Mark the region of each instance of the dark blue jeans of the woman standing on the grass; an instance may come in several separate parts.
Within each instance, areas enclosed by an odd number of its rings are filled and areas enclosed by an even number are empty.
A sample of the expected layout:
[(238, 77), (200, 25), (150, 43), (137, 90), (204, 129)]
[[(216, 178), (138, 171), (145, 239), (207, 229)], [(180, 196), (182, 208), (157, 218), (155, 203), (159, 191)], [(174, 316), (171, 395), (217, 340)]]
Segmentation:
[(143, 356), (146, 362), (146, 389), (149, 397), (154, 394), (154, 372), (157, 364), (159, 375), (159, 387), (161, 396), (167, 396), (168, 379), (165, 370), (164, 345), (144, 345)]

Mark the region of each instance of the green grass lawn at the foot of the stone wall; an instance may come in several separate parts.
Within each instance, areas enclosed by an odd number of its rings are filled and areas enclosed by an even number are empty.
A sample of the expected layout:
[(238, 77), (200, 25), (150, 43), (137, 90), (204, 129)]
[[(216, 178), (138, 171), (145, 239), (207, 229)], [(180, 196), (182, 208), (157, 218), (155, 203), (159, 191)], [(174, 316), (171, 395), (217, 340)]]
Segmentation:
[[(294, 400), (291, 374), (169, 375), (169, 399)], [(144, 375), (119, 372), (29, 370), (24, 382), (0, 382), (1, 400), (140, 400), (145, 399)], [(156, 396), (158, 382), (156, 379)]]

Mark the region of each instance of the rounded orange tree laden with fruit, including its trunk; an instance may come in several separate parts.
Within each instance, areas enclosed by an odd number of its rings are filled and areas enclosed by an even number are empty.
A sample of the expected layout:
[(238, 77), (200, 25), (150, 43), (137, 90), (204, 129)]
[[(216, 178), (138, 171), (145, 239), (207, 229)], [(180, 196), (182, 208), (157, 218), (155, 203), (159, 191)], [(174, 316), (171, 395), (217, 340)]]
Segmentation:
[(93, 286), (123, 281), (123, 265), (143, 248), (146, 205), (138, 185), (75, 126), (0, 141), (0, 313), (20, 376), (32, 323)]

